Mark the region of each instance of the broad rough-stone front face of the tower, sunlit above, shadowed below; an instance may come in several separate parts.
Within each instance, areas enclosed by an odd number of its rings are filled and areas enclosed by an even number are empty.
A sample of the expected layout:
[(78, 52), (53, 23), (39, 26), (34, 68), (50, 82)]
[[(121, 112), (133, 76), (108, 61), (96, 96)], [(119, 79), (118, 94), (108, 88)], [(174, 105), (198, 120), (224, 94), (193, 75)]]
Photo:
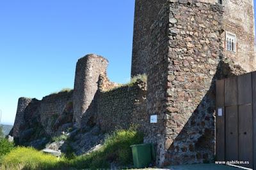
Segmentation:
[(225, 63), (223, 6), (171, 1), (163, 165), (213, 162), (215, 80), (244, 73)]

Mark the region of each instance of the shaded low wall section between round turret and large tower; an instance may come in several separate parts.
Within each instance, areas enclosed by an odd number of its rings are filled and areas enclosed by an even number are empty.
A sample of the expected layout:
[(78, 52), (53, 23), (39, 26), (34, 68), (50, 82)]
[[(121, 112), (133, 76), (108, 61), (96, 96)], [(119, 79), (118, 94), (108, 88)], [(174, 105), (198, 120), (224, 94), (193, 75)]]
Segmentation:
[(146, 83), (141, 80), (132, 85), (99, 92), (96, 105), (100, 129), (111, 132), (138, 125), (138, 129), (144, 132), (149, 124), (146, 95)]

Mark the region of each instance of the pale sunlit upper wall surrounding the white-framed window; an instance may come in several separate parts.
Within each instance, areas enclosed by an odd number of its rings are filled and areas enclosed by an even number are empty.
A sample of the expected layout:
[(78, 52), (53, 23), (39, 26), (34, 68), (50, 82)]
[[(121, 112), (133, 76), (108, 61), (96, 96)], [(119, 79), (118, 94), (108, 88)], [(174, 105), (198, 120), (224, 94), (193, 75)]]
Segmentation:
[(236, 34), (236, 52), (227, 50), (225, 32), (223, 34), (223, 48), (225, 56), (234, 60), (247, 72), (255, 71), (255, 31), (253, 1), (223, 1), (223, 29)]

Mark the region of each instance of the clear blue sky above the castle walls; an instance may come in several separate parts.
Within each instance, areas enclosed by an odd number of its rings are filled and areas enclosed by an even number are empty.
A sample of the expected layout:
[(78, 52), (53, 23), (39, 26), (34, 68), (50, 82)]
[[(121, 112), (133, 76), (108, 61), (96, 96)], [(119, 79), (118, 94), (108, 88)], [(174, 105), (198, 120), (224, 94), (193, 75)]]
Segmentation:
[(77, 59), (109, 60), (111, 81), (131, 73), (134, 0), (0, 1), (0, 110), (13, 124), (19, 97), (74, 87)]

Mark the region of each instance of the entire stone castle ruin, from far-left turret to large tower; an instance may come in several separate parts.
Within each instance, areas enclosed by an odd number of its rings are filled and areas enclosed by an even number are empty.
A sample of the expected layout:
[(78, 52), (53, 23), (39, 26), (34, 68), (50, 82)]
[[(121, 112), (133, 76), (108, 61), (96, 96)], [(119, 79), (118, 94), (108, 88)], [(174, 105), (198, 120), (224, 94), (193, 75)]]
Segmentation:
[(254, 71), (255, 62), (253, 1), (136, 0), (131, 76), (147, 74), (147, 82), (118, 87), (106, 76), (108, 60), (87, 55), (74, 91), (19, 99), (11, 134), (26, 143), (28, 134), (73, 125), (109, 132), (137, 124), (157, 166), (212, 162), (215, 80)]

